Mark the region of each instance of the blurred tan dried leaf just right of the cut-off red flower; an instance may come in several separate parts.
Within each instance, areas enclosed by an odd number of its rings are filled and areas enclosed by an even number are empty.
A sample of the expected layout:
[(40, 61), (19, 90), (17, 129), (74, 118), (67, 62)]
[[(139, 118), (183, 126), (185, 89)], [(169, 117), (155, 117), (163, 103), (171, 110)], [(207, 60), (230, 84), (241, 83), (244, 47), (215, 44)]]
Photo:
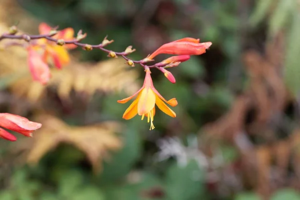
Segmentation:
[(51, 115), (41, 115), (36, 120), (42, 123), (42, 127), (34, 134), (33, 144), (27, 146), (27, 162), (30, 164), (37, 163), (44, 154), (65, 142), (82, 150), (94, 171), (98, 172), (101, 169), (100, 160), (107, 158), (110, 150), (117, 150), (122, 146), (120, 137), (115, 134), (121, 129), (117, 122), (70, 126)]

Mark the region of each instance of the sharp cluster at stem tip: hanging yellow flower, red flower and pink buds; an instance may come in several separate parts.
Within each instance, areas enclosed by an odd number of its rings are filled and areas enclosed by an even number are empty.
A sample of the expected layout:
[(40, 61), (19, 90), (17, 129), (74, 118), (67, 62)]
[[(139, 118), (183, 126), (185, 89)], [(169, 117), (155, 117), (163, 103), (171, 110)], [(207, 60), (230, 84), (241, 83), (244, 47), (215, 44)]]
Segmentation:
[[(211, 45), (211, 42), (199, 43), (199, 39), (185, 37), (178, 39), (160, 46), (152, 54), (147, 56), (144, 60), (151, 61), (156, 55), (165, 54), (177, 54), (167, 59), (162, 60), (154, 64), (161, 72), (164, 73), (165, 77), (172, 83), (175, 83), (175, 77), (172, 73), (165, 68), (178, 66), (181, 62), (186, 61), (190, 58), (190, 55), (200, 55), (206, 51)], [(124, 119), (130, 119), (136, 114), (141, 116), (141, 120), (146, 116), (147, 122), (150, 122), (150, 130), (154, 128), (153, 120), (155, 115), (155, 104), (157, 107), (171, 117), (175, 117), (176, 113), (170, 109), (165, 103), (170, 106), (176, 106), (176, 98), (166, 100), (160, 93), (154, 88), (153, 82), (150, 75), (150, 67), (145, 66), (145, 79), (142, 87), (134, 93), (132, 96), (118, 100), (119, 103), (125, 103), (131, 98), (136, 96), (135, 100), (129, 105), (123, 114)]]

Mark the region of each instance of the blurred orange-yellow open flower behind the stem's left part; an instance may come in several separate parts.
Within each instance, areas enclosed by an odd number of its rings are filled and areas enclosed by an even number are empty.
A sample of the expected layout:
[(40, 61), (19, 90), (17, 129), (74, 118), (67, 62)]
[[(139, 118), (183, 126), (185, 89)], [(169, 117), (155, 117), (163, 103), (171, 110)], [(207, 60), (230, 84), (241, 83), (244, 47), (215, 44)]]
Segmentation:
[[(52, 27), (46, 23), (40, 23), (38, 26), (40, 34), (48, 34), (52, 30)], [(73, 28), (64, 28), (58, 31), (57, 34), (52, 36), (54, 39), (63, 39), (64, 41), (69, 41), (74, 39)], [(39, 45), (44, 46), (43, 59), (45, 62), (51, 60), (57, 68), (61, 68), (63, 65), (67, 65), (70, 61), (67, 49), (75, 48), (75, 44), (64, 44), (62, 46), (57, 45), (55, 42), (49, 41), (45, 38), (38, 39)]]

